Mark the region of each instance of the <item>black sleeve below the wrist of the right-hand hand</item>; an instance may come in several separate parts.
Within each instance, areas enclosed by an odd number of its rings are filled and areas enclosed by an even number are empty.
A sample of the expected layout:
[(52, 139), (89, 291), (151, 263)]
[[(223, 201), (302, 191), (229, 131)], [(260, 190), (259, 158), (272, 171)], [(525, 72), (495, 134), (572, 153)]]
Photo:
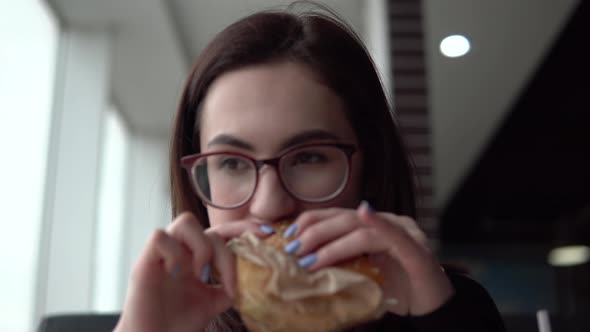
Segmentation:
[(487, 291), (475, 280), (448, 273), (455, 294), (440, 308), (422, 316), (408, 316), (407, 322), (417, 332), (430, 331), (506, 331), (496, 305)]

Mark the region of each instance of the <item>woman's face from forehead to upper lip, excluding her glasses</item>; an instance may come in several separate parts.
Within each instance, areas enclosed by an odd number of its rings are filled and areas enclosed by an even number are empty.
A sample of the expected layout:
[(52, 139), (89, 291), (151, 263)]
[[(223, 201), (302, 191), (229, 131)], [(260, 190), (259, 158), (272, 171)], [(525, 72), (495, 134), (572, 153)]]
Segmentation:
[[(268, 159), (306, 143), (358, 146), (342, 100), (319, 83), (308, 67), (279, 62), (225, 73), (210, 86), (201, 117), (201, 152), (232, 151)], [(281, 185), (277, 170), (263, 166), (252, 198), (234, 209), (207, 207), (212, 226), (233, 220), (271, 223), (307, 209), (354, 208), (360, 200), (361, 153), (352, 157), (348, 186), (326, 203), (305, 203)]]

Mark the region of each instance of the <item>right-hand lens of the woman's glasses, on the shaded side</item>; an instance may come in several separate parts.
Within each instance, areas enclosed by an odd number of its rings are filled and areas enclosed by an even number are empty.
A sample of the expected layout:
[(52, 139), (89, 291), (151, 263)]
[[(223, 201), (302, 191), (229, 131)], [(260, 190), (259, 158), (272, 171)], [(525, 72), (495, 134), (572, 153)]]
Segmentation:
[(333, 146), (294, 150), (281, 160), (283, 182), (306, 201), (328, 200), (340, 194), (348, 179), (348, 157)]

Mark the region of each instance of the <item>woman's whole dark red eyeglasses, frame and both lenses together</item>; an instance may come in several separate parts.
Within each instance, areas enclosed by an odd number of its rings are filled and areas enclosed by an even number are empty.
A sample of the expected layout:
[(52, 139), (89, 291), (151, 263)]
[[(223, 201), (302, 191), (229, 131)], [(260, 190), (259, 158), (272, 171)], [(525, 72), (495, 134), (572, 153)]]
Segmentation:
[(246, 204), (264, 165), (276, 169), (281, 185), (295, 199), (326, 202), (340, 195), (350, 179), (352, 144), (300, 145), (276, 158), (256, 160), (237, 152), (211, 152), (181, 158), (199, 197), (207, 204), (233, 209)]

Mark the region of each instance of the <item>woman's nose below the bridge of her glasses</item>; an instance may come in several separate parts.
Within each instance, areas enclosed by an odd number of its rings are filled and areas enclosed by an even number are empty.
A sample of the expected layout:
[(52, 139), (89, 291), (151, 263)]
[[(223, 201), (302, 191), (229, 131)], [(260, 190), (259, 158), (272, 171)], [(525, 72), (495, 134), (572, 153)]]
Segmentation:
[(265, 165), (259, 172), (258, 185), (249, 207), (252, 217), (266, 222), (294, 217), (297, 202), (281, 185), (277, 170)]

